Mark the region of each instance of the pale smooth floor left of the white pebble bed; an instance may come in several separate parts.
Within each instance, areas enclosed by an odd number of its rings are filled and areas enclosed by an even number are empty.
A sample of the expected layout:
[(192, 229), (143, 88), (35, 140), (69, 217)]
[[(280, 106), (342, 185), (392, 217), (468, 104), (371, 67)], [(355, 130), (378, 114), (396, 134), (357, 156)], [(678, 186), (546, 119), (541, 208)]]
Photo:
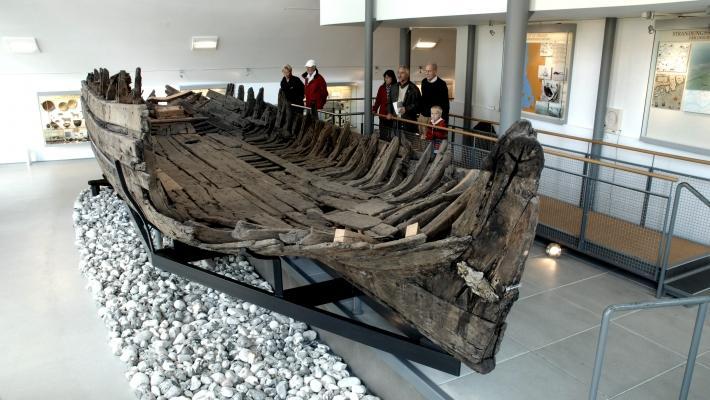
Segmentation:
[(0, 166), (0, 399), (134, 399), (79, 274), (72, 206), (94, 160)]

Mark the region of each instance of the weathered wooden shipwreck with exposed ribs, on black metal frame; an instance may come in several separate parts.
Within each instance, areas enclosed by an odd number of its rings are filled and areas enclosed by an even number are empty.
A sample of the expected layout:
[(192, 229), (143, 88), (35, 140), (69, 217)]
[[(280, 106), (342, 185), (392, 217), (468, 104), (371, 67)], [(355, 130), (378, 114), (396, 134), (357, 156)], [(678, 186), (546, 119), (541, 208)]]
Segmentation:
[(413, 150), (243, 87), (167, 87), (143, 99), (140, 69), (82, 82), (91, 145), (123, 195), (181, 242), (223, 253), (304, 256), (337, 270), (475, 371), (495, 367), (535, 235), (543, 151), (514, 124), (481, 170), (454, 146)]

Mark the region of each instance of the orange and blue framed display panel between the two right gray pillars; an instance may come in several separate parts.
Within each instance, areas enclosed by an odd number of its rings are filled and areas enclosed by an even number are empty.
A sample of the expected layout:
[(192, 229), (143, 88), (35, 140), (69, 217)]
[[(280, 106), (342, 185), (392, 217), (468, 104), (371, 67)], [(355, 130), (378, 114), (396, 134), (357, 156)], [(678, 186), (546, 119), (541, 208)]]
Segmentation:
[(575, 25), (528, 28), (521, 107), (527, 117), (565, 123)]

